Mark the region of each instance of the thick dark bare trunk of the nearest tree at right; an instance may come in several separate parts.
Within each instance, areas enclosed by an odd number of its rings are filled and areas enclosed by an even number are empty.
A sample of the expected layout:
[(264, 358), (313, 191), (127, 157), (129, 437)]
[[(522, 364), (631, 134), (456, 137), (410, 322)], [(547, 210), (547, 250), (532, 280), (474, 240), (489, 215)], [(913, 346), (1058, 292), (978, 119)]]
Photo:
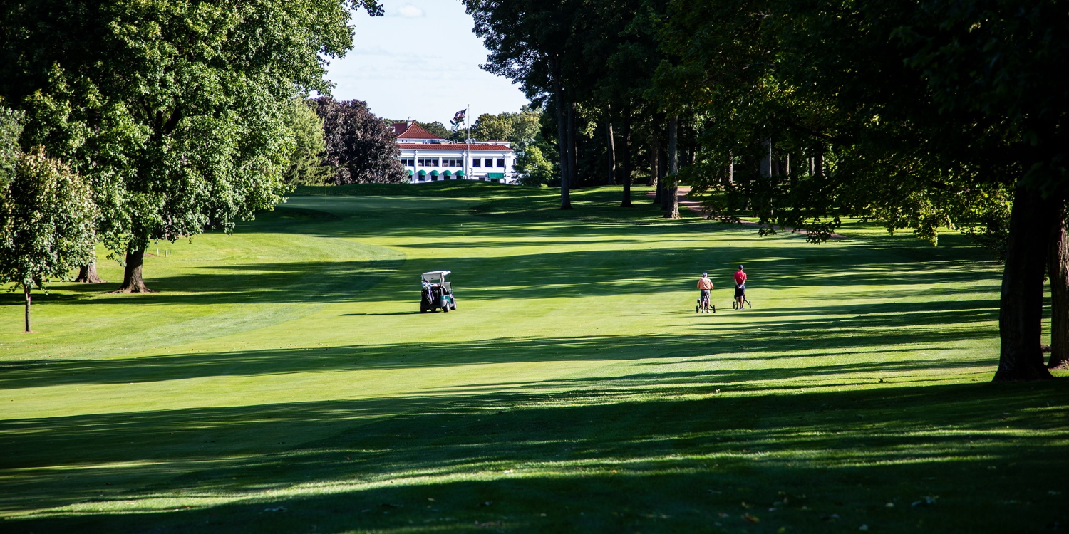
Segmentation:
[(1051, 378), (1040, 349), (1043, 271), (1056, 203), (1018, 184), (1010, 211), (1003, 270), (998, 335), (1002, 347), (995, 381)]

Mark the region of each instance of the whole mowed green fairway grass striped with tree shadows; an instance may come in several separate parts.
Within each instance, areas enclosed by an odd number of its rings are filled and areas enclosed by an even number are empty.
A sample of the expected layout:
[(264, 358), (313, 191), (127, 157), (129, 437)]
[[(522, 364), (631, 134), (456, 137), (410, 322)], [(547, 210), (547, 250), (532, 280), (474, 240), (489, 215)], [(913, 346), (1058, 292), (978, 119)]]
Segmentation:
[[(161, 244), (157, 294), (100, 251), (33, 334), (4, 294), (0, 532), (1069, 528), (1067, 381), (989, 383), (1000, 268), (961, 236), (352, 189)], [(441, 268), (458, 310), (420, 314)]]

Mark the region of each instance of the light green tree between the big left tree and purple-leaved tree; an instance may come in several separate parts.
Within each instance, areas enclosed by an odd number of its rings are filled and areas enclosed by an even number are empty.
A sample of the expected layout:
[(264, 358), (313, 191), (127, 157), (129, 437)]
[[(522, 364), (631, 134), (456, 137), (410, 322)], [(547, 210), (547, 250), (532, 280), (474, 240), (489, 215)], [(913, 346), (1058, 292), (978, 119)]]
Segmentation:
[(290, 167), (282, 176), (289, 184), (321, 186), (334, 175), (334, 169), (323, 164), (327, 155), (323, 120), (304, 99), (294, 99), (289, 112), (293, 150), (290, 152)]

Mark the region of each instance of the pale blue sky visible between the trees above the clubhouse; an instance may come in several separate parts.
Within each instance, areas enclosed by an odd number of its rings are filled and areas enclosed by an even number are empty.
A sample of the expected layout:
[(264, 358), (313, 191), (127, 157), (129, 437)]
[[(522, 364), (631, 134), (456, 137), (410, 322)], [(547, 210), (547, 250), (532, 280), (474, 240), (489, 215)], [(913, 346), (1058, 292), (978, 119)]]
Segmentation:
[(460, 0), (385, 0), (383, 7), (384, 17), (354, 13), (353, 50), (327, 69), (335, 98), (365, 100), (385, 119), (446, 126), (468, 105), (475, 121), (527, 104), (518, 85), (479, 68), (487, 51)]

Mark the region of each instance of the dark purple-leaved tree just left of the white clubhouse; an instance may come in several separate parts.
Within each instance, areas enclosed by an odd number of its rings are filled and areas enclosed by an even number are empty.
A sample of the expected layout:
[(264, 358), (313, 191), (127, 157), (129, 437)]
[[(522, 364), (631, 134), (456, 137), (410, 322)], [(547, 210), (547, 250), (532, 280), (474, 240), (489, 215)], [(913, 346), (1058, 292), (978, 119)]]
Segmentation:
[(326, 161), (336, 169), (335, 184), (400, 184), (405, 182), (397, 135), (362, 100), (315, 99), (323, 119)]

